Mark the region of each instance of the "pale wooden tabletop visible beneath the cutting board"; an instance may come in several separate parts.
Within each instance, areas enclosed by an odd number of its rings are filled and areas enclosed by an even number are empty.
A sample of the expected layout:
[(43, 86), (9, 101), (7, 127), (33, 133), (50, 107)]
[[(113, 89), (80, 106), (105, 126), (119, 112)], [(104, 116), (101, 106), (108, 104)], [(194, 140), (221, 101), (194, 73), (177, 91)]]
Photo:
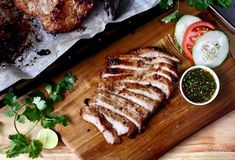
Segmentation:
[[(0, 146), (8, 143), (7, 136), (14, 133), (12, 119), (2, 115), (5, 109), (0, 110)], [(203, 128), (172, 150), (164, 154), (160, 160), (234, 160), (235, 157), (235, 111), (232, 111), (211, 125)], [(26, 125), (29, 129), (31, 125)], [(40, 127), (35, 128), (35, 133)], [(14, 159), (7, 159), (0, 153), (1, 160), (29, 160), (26, 155)], [(44, 150), (38, 160), (79, 160), (76, 155), (62, 142), (52, 150)]]

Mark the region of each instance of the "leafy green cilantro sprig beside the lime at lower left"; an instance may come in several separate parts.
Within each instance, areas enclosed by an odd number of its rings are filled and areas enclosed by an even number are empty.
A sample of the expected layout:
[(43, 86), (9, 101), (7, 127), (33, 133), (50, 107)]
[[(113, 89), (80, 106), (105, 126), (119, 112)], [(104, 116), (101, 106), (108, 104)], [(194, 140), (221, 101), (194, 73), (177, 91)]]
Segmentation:
[[(7, 117), (14, 117), (14, 128), (16, 134), (9, 135), (10, 144), (0, 149), (8, 149), (6, 156), (13, 158), (20, 154), (28, 154), (30, 158), (39, 157), (43, 145), (37, 139), (30, 140), (27, 136), (37, 124), (41, 124), (43, 128), (54, 129), (57, 124), (67, 126), (68, 120), (64, 115), (53, 114), (53, 104), (63, 101), (63, 93), (71, 90), (76, 83), (76, 77), (70, 73), (65, 74), (64, 78), (58, 83), (45, 84), (44, 94), (41, 91), (34, 91), (28, 95), (24, 104), (17, 101), (17, 96), (12, 92), (8, 92), (4, 96), (3, 102), (9, 106), (5, 111)], [(23, 110), (23, 111), (22, 111)], [(22, 111), (22, 113), (20, 113)], [(25, 123), (25, 120), (33, 122), (34, 125), (25, 134), (20, 133), (16, 123)]]

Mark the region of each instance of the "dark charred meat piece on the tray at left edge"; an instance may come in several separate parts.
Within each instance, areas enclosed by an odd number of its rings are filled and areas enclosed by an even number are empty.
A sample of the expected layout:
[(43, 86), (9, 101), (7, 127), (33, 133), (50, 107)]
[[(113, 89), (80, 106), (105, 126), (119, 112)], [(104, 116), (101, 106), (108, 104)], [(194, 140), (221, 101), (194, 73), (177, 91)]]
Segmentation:
[(0, 62), (14, 62), (22, 54), (30, 29), (12, 1), (0, 2)]

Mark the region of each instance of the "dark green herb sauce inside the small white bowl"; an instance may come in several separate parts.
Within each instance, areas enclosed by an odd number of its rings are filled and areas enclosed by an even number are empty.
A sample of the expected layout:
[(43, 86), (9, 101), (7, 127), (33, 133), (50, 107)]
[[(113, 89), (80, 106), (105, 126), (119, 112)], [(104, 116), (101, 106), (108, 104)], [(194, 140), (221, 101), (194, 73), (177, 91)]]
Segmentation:
[(189, 71), (182, 82), (184, 95), (195, 103), (204, 103), (211, 99), (216, 90), (216, 82), (210, 72), (198, 68)]

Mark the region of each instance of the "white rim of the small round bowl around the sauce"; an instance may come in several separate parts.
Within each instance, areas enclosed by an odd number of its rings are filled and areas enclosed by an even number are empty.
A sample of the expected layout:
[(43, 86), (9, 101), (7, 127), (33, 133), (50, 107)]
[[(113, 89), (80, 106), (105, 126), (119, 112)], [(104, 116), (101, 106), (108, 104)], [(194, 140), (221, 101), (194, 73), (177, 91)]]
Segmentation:
[[(211, 99), (210, 99), (209, 101), (204, 102), (204, 103), (195, 103), (195, 102), (192, 102), (191, 100), (189, 100), (189, 99), (185, 96), (185, 94), (184, 94), (184, 92), (183, 92), (183, 89), (182, 89), (182, 82), (183, 82), (183, 79), (184, 79), (185, 75), (186, 75), (189, 71), (194, 70), (194, 69), (197, 69), (197, 68), (201, 68), (201, 69), (204, 69), (204, 70), (210, 72), (211, 75), (214, 77), (215, 82), (216, 82), (216, 90), (215, 90), (214, 95), (211, 97)], [(216, 96), (218, 95), (219, 90), (220, 90), (220, 82), (219, 82), (218, 76), (216, 75), (216, 73), (215, 73), (212, 69), (210, 69), (210, 68), (208, 68), (208, 67), (206, 67), (206, 66), (193, 66), (193, 67), (190, 67), (189, 69), (187, 69), (187, 70), (184, 72), (184, 74), (183, 74), (183, 75), (181, 76), (181, 78), (180, 78), (180, 92), (181, 92), (181, 95), (184, 97), (184, 99), (185, 99), (187, 102), (189, 102), (189, 103), (191, 103), (191, 104), (193, 104), (193, 105), (202, 106), (202, 105), (206, 105), (206, 104), (211, 103), (211, 102), (216, 98)]]

